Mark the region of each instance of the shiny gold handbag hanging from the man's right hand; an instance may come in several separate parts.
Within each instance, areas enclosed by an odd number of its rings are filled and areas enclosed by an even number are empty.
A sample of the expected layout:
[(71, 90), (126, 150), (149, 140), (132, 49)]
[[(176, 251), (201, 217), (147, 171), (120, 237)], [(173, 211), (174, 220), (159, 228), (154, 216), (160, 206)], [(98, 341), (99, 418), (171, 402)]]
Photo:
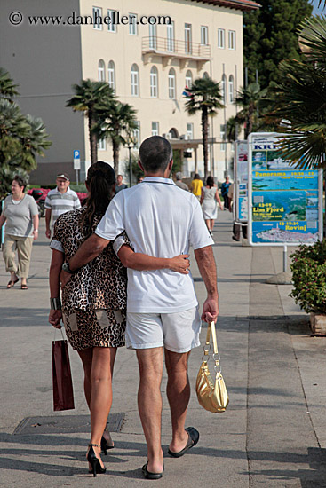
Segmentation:
[[(213, 338), (214, 347), (213, 359), (215, 361), (215, 382), (213, 382), (211, 378), (210, 370), (207, 365), (210, 358), (209, 352), (211, 349), (211, 335)], [(219, 360), (220, 356), (218, 351), (218, 342), (216, 339), (215, 324), (214, 322), (211, 322), (211, 324), (209, 324), (207, 327), (206, 344), (203, 347), (203, 363), (197, 374), (195, 391), (197, 393), (197, 398), (200, 405), (202, 405), (205, 410), (212, 413), (223, 413), (226, 411), (228, 405), (227, 387), (221, 374)]]

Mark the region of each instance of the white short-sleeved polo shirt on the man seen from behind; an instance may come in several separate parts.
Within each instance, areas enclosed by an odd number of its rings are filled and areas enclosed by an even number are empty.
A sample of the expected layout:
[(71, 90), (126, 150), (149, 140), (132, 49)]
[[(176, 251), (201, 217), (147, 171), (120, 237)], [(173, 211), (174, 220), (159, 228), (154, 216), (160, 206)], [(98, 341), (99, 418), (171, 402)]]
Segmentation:
[[(190, 246), (213, 244), (198, 200), (168, 178), (146, 177), (115, 195), (95, 232), (114, 240), (123, 230), (136, 253), (155, 257), (188, 254)], [(130, 312), (173, 313), (198, 304), (190, 273), (128, 269), (127, 293)]]

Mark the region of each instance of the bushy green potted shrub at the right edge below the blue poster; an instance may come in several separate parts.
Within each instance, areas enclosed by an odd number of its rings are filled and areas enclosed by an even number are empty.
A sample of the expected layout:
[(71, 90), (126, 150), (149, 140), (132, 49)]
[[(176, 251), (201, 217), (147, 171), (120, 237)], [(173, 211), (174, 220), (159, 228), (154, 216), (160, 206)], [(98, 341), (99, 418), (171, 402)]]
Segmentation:
[(326, 240), (300, 246), (290, 255), (293, 289), (290, 293), (310, 313), (314, 334), (326, 335)]

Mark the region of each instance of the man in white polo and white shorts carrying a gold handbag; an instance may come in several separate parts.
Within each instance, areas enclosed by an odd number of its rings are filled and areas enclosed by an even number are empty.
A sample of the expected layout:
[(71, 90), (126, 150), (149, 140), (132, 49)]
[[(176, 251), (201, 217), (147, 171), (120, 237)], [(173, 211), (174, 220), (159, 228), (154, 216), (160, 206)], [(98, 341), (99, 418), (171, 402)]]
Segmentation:
[[(169, 179), (171, 145), (159, 136), (147, 138), (139, 149), (141, 185), (115, 195), (99, 226), (69, 263), (69, 272), (98, 256), (109, 240), (125, 230), (135, 252), (156, 257), (187, 255), (189, 246), (207, 289), (202, 319), (219, 314), (217, 273), (202, 209), (192, 193), (180, 192)], [(119, 255), (119, 253), (118, 253)], [(128, 261), (123, 262), (128, 267)], [(167, 396), (171, 408), (172, 440), (169, 453), (181, 457), (197, 444), (199, 433), (185, 429), (190, 385), (187, 360), (200, 344), (201, 319), (190, 274), (170, 270), (139, 272), (128, 268), (127, 347), (139, 360), (139, 415), (147, 440), (147, 479), (163, 476), (161, 447), (163, 356), (168, 373)]]

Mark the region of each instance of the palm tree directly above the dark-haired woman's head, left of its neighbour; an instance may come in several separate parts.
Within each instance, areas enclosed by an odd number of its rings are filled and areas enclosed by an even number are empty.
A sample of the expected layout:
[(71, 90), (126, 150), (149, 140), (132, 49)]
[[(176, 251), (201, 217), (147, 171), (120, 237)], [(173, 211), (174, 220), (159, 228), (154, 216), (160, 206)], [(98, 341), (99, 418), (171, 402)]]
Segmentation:
[(88, 118), (91, 164), (94, 164), (98, 160), (98, 141), (96, 131), (93, 130), (97, 122), (97, 113), (107, 100), (115, 97), (114, 91), (107, 82), (93, 82), (90, 79), (82, 80), (72, 88), (75, 96), (68, 99), (66, 106), (70, 106), (74, 112), (83, 112)]

